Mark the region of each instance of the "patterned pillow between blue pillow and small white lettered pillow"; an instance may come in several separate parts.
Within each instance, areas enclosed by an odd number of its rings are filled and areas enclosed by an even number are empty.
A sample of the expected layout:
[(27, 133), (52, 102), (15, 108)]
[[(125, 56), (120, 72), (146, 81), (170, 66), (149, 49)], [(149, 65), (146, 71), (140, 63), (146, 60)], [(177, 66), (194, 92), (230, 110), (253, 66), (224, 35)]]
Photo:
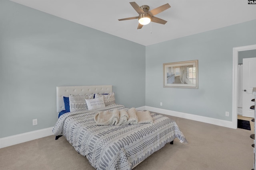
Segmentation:
[(88, 95), (69, 95), (69, 109), (70, 111), (78, 111), (88, 109), (85, 100), (93, 99), (94, 94)]

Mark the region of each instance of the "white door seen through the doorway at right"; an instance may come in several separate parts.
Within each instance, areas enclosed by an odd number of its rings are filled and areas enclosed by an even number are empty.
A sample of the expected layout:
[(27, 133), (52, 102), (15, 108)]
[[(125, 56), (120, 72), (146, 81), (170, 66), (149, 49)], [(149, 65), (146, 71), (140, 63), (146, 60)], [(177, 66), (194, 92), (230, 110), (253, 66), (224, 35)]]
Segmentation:
[(250, 106), (254, 105), (251, 100), (252, 88), (256, 87), (256, 57), (243, 59), (243, 112), (244, 117), (254, 117), (254, 110)]

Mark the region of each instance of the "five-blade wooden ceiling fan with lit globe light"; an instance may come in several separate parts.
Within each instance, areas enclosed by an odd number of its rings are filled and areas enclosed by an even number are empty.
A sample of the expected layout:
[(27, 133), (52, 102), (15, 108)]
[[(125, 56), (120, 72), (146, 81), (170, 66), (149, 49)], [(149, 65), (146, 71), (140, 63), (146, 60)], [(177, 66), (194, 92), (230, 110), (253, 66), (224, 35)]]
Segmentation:
[(139, 16), (123, 18), (123, 19), (119, 19), (119, 21), (139, 19), (139, 25), (138, 25), (137, 29), (141, 29), (143, 27), (143, 25), (147, 25), (148, 23), (150, 23), (150, 21), (156, 22), (156, 23), (161, 23), (161, 24), (165, 24), (167, 22), (165, 20), (155, 17), (155, 15), (170, 8), (171, 6), (168, 3), (164, 4), (162, 6), (159, 6), (151, 11), (149, 11), (149, 6), (147, 6), (147, 5), (138, 6), (138, 4), (136, 4), (136, 2), (130, 2), (130, 4), (134, 8), (134, 10), (136, 12), (138, 12)]

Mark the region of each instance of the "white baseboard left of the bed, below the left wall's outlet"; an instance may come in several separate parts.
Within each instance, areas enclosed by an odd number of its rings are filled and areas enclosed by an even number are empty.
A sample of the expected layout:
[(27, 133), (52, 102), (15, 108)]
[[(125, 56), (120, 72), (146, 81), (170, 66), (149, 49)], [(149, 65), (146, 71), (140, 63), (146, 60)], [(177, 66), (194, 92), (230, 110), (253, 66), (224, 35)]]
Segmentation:
[(42, 137), (50, 136), (52, 134), (52, 127), (46, 129), (40, 129), (37, 131), (21, 133), (18, 135), (13, 135), (10, 137), (0, 138), (0, 148), (9, 147), (19, 143), (32, 141), (34, 139), (39, 139)]

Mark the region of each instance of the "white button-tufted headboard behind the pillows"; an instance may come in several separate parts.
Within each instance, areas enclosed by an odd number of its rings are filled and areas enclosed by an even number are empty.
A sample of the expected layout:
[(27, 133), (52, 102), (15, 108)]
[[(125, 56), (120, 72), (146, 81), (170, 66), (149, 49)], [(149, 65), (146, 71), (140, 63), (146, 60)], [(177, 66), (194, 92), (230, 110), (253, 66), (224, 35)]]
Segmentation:
[(64, 110), (65, 105), (63, 101), (64, 97), (69, 97), (70, 94), (85, 95), (95, 93), (112, 93), (112, 85), (103, 86), (57, 86), (57, 113)]

